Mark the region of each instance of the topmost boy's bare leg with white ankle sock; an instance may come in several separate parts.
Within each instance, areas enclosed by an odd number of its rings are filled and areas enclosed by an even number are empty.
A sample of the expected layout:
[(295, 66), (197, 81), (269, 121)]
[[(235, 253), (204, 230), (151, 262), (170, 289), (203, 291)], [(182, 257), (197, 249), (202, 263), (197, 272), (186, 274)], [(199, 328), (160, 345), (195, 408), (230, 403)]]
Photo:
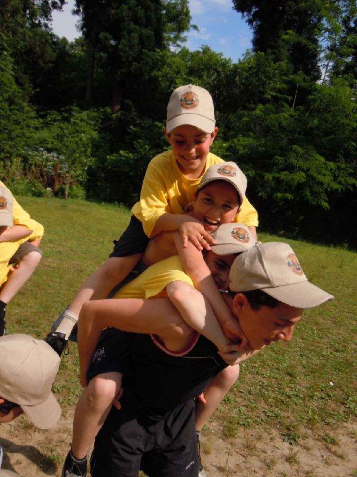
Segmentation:
[(71, 301), (64, 312), (62, 321), (56, 331), (64, 333), (68, 339), (74, 322), (78, 321), (82, 305), (89, 300), (107, 298), (111, 290), (124, 280), (135, 267), (141, 257), (140, 253), (129, 257), (110, 257), (94, 273), (92, 273)]

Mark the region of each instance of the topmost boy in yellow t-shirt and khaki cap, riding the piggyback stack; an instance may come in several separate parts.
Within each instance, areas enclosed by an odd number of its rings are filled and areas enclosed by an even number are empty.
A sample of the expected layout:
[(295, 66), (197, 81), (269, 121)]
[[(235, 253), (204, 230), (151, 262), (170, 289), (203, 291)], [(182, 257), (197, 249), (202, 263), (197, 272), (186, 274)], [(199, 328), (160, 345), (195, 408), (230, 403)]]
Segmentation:
[[(208, 167), (224, 161), (209, 152), (218, 132), (214, 106), (207, 90), (195, 85), (180, 86), (172, 93), (164, 133), (171, 150), (155, 156), (144, 177), (140, 200), (132, 208), (129, 227), (116, 242), (109, 259), (82, 285), (60, 319), (56, 331), (68, 339), (83, 303), (106, 298), (138, 263), (149, 238), (162, 231), (178, 230), (198, 250), (213, 243), (203, 224), (185, 214), (194, 199), (198, 183)], [(243, 197), (237, 222), (248, 226), (256, 237), (258, 214)], [(219, 225), (216, 224), (217, 226)], [(184, 263), (186, 270), (186, 264)], [(58, 323), (60, 322), (60, 325)]]

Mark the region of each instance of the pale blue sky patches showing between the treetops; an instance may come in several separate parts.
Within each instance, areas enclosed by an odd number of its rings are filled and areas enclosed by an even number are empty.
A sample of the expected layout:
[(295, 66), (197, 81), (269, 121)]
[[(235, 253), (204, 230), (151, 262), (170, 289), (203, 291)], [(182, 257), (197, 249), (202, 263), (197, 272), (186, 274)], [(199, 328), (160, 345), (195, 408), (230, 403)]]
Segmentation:
[[(53, 31), (69, 41), (79, 36), (75, 24), (78, 17), (71, 14), (74, 0), (69, 0), (61, 12), (53, 12)], [(199, 31), (190, 31), (185, 46), (199, 50), (208, 45), (213, 51), (221, 52), (236, 62), (251, 47), (252, 33), (233, 10), (231, 0), (189, 0), (192, 23)]]

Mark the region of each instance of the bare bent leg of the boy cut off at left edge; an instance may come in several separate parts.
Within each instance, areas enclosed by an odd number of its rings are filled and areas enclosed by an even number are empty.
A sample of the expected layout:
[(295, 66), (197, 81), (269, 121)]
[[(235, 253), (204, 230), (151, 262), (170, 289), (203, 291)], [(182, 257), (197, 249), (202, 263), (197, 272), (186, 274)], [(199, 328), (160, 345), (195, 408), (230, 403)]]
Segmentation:
[(20, 261), (19, 266), (11, 273), (8, 281), (2, 288), (0, 292), (1, 301), (9, 303), (9, 301), (13, 299), (16, 293), (36, 270), (40, 260), (41, 254), (35, 250), (25, 255)]

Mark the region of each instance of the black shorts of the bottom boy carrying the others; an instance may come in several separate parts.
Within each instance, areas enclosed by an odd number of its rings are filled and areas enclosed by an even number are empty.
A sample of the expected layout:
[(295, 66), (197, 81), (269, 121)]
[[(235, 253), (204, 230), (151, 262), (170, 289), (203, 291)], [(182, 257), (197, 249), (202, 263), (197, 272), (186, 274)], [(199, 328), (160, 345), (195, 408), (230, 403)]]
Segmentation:
[[(145, 389), (143, 389), (145, 393)], [(159, 421), (112, 407), (95, 440), (92, 477), (197, 477), (198, 451), (192, 400)]]

